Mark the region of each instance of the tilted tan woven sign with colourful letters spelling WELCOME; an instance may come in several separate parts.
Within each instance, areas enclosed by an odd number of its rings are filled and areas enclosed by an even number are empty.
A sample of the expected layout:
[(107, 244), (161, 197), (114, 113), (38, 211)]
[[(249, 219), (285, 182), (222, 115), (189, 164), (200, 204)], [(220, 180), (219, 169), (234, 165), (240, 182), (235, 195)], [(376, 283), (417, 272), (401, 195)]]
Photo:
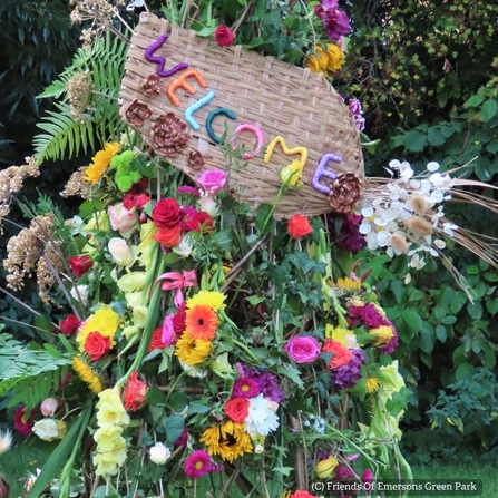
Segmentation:
[[(330, 212), (329, 185), (341, 173), (364, 180), (354, 119), (322, 75), (221, 48), (150, 13), (131, 39), (120, 113), (192, 178), (230, 169), (230, 188), (253, 208), (274, 202), (279, 170), (292, 165), (301, 188), (283, 196), (279, 216)], [(241, 153), (240, 165), (227, 147)]]

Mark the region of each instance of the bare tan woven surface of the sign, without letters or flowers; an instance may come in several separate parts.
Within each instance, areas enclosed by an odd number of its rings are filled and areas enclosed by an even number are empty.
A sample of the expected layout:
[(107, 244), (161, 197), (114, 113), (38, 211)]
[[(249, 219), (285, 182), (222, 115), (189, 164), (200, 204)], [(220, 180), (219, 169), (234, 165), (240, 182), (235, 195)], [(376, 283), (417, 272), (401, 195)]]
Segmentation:
[[(177, 89), (178, 107), (172, 104), (166, 90), (180, 74), (160, 78), (162, 92), (156, 97), (147, 98), (141, 91), (144, 80), (155, 75), (157, 69), (156, 64), (146, 60), (145, 51), (164, 33), (169, 33), (169, 38), (154, 55), (166, 58), (165, 69), (187, 62), (188, 69), (197, 70), (207, 82), (207, 87), (203, 88), (195, 78), (188, 78), (195, 92), (191, 95), (184, 88)], [(336, 173), (358, 173), (364, 180), (363, 157), (354, 119), (322, 75), (243, 50), (241, 46), (221, 48), (214, 40), (196, 36), (195, 31), (143, 13), (128, 52), (120, 95), (121, 116), (126, 116), (127, 108), (135, 99), (146, 102), (153, 111), (150, 119), (139, 127), (131, 126), (149, 141), (154, 119), (167, 113), (184, 119), (185, 109), (208, 91), (214, 91), (215, 98), (195, 113), (201, 128), (191, 128), (191, 139), (185, 150), (165, 158), (192, 178), (198, 177), (199, 172), (188, 165), (187, 155), (191, 150), (199, 150), (206, 159), (204, 170), (230, 168), (230, 188), (256, 208), (262, 203), (274, 202), (282, 184), (279, 169), (300, 158), (300, 155), (285, 155), (276, 145), (267, 164), (260, 154), (248, 159), (243, 168), (228, 166), (223, 148), (213, 143), (205, 126), (207, 115), (223, 107), (232, 110), (236, 120), (214, 119), (213, 130), (217, 136), (223, 136), (226, 130), (230, 135), (237, 125), (247, 123), (264, 134), (262, 153), (276, 136), (282, 136), (289, 148), (305, 147), (309, 152), (302, 175), (304, 185), (300, 191), (287, 192), (282, 197), (276, 216), (290, 217), (294, 213), (318, 215), (331, 211), (328, 196), (311, 186), (314, 169), (326, 153), (342, 157), (342, 163), (329, 163), (328, 168)], [(252, 150), (254, 138), (252, 133), (242, 131), (236, 144), (244, 144), (246, 150)]]

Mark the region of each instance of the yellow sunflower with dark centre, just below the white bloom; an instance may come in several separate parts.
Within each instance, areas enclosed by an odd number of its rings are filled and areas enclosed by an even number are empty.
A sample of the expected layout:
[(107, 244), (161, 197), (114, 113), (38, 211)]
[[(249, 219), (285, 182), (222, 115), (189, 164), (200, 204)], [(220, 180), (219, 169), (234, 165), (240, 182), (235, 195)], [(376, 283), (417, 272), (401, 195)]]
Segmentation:
[(232, 420), (206, 429), (199, 441), (207, 446), (209, 455), (219, 455), (223, 460), (230, 463), (235, 458), (253, 451), (253, 443), (245, 430), (245, 423), (237, 423)]

